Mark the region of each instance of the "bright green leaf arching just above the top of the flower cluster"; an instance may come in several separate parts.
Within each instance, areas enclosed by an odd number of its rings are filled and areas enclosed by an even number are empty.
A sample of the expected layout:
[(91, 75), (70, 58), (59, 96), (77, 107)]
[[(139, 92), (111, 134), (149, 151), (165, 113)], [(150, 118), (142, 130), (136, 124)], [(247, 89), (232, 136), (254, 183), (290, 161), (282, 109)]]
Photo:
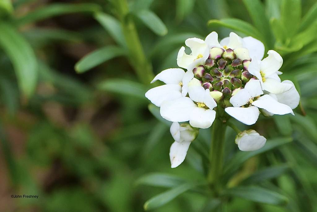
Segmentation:
[(253, 38), (262, 40), (261, 33), (256, 28), (254, 28), (254, 26), (240, 19), (224, 18), (220, 20), (210, 20), (208, 21), (208, 26), (227, 27), (229, 29), (242, 32), (245, 35), (252, 36)]

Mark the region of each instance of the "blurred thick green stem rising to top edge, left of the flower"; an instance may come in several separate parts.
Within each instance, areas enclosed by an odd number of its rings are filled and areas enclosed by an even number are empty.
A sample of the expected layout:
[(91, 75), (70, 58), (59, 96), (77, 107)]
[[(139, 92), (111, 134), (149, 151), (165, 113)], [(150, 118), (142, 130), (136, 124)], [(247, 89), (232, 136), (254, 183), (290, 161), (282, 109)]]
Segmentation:
[(130, 64), (133, 66), (139, 80), (144, 84), (149, 84), (154, 78), (152, 65), (144, 54), (132, 16), (129, 15), (128, 3), (126, 0), (116, 0), (113, 1), (113, 4), (117, 9), (121, 22), (123, 35), (129, 51)]

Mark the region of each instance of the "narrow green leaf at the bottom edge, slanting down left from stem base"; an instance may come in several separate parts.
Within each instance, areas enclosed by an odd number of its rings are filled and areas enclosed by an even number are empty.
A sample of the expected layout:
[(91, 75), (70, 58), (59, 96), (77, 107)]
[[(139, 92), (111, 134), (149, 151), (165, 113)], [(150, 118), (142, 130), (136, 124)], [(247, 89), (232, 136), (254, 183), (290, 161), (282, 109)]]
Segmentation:
[(170, 202), (178, 195), (180, 195), (180, 194), (182, 194), (182, 193), (184, 193), (184, 192), (186, 192), (189, 189), (192, 189), (194, 187), (195, 187), (195, 184), (192, 184), (192, 183), (185, 183), (185, 184), (179, 185), (175, 188), (172, 188), (171, 190), (165, 191), (159, 195), (152, 197), (151, 199), (146, 201), (146, 203), (144, 204), (143, 207), (145, 210), (156, 209), (156, 208), (166, 204), (167, 202)]

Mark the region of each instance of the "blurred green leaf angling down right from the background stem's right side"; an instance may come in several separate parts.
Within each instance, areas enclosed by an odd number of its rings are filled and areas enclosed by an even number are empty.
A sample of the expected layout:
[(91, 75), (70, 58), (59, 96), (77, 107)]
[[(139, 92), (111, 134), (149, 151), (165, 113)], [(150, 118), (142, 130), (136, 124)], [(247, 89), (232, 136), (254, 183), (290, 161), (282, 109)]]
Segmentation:
[(138, 17), (143, 22), (143, 24), (145, 24), (155, 34), (160, 36), (167, 34), (167, 28), (165, 24), (151, 10), (141, 10), (134, 13), (134, 15)]

